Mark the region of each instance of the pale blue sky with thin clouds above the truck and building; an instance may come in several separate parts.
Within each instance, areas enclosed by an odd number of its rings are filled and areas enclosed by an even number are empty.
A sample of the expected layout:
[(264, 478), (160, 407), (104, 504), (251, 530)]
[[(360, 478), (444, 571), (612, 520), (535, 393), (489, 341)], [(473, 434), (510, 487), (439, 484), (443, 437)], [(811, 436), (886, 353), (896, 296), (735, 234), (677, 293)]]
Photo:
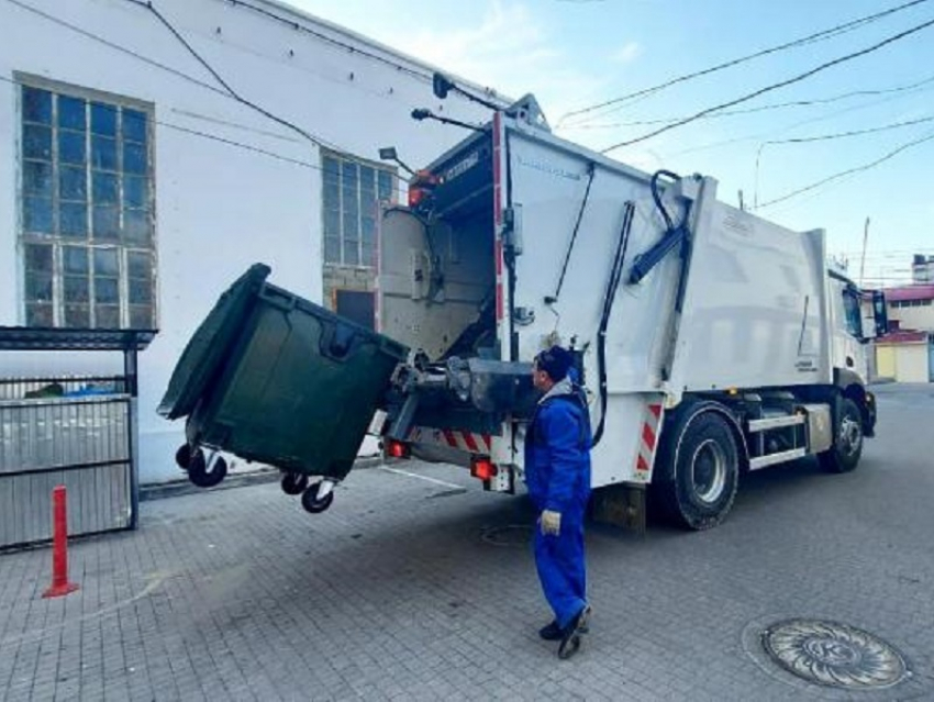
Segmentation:
[[(905, 0), (290, 1), (502, 93), (533, 92), (559, 135), (598, 149), (658, 126), (632, 122), (694, 114), (934, 20), (934, 1), (922, 2), (830, 41), (638, 102), (566, 116)], [(646, 170), (665, 167), (713, 176), (722, 200), (738, 204), (742, 189), (747, 207), (758, 202), (763, 216), (798, 230), (824, 227), (831, 252), (846, 255), (854, 275), (859, 272), (864, 223), (871, 218), (866, 282), (892, 282), (907, 276), (912, 253), (934, 255), (934, 178), (927, 169), (934, 157), (934, 26), (735, 108), (891, 90), (929, 78), (912, 89), (699, 120), (610, 155)], [(767, 143), (913, 121), (918, 123), (848, 138)], [(761, 207), (927, 136), (932, 140), (877, 167)]]

